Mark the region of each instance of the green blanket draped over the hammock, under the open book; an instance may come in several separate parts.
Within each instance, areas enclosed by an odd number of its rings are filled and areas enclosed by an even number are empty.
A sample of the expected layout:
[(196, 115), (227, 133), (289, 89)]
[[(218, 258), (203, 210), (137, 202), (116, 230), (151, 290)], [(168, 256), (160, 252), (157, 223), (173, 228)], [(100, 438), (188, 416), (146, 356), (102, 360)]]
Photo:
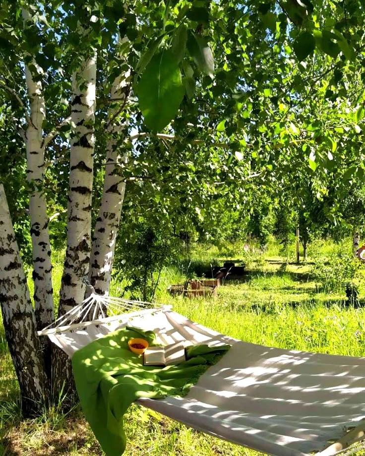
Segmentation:
[(134, 400), (186, 394), (230, 348), (193, 345), (186, 348), (187, 360), (179, 365), (143, 366), (142, 356), (128, 349), (128, 340), (135, 337), (156, 344), (152, 331), (126, 327), (90, 342), (72, 357), (82, 409), (107, 456), (120, 456), (125, 450), (123, 415)]

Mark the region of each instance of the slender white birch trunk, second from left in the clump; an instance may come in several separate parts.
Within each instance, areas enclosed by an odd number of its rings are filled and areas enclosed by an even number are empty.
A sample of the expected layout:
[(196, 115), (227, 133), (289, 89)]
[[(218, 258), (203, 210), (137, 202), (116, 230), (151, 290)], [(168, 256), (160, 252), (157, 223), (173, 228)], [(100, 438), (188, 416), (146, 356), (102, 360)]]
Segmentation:
[[(22, 10), (24, 25), (31, 20), (29, 11)], [(35, 59), (32, 65), (41, 74), (42, 69)], [(46, 108), (41, 81), (34, 81), (28, 66), (25, 66), (25, 80), (29, 96), (30, 121), (25, 133), (27, 151), (27, 179), (30, 185), (29, 213), (30, 234), (33, 247), (34, 302), (37, 329), (49, 325), (54, 319), (52, 287), (51, 245), (48, 232), (47, 204), (43, 193), (44, 141), (42, 123)]]

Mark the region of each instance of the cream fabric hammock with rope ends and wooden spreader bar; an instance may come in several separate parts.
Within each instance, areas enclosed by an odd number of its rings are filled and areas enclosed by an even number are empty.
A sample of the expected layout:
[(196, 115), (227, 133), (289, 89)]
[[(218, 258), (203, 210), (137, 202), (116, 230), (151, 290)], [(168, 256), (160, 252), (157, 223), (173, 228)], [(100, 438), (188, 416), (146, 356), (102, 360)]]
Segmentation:
[[(124, 326), (153, 330), (163, 344), (230, 344), (187, 396), (137, 402), (269, 455), (337, 455), (365, 438), (365, 358), (242, 342), (192, 322), (172, 306), (150, 306), (92, 293), (38, 334), (69, 356)], [(114, 315), (106, 316), (106, 309)]]

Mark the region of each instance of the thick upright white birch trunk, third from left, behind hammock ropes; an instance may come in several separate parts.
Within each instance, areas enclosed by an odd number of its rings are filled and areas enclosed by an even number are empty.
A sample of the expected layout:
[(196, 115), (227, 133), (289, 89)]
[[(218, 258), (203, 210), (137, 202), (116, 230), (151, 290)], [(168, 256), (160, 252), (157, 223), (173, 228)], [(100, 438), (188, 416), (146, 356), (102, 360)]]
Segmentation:
[(91, 250), (91, 198), (94, 164), (96, 106), (96, 53), (72, 77), (70, 175), (67, 248), (60, 312), (84, 299), (82, 278), (88, 275)]

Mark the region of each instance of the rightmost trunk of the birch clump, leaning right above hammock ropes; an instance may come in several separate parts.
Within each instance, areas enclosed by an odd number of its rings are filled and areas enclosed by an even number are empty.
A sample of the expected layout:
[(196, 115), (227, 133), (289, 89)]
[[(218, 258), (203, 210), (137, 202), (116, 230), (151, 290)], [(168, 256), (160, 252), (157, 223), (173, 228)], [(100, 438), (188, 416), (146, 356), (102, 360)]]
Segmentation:
[[(92, 239), (89, 280), (98, 294), (109, 294), (114, 252), (122, 214), (125, 181), (118, 174), (118, 163), (126, 163), (127, 157), (120, 151), (122, 125), (116, 121), (121, 105), (128, 96), (127, 78), (129, 72), (115, 79), (111, 90), (112, 108), (109, 110), (107, 143), (107, 161), (104, 174), (104, 186), (98, 217)], [(113, 100), (118, 100), (119, 103)]]

